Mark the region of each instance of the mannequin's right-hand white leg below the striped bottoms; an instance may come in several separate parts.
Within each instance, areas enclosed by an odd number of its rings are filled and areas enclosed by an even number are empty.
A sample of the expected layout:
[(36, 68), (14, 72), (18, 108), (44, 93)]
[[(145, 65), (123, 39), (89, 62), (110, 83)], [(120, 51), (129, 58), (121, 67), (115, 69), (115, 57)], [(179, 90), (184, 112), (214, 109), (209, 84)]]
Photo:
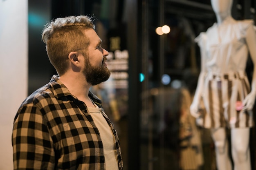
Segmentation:
[(231, 149), (234, 170), (251, 170), (249, 135), (249, 128), (231, 129)]

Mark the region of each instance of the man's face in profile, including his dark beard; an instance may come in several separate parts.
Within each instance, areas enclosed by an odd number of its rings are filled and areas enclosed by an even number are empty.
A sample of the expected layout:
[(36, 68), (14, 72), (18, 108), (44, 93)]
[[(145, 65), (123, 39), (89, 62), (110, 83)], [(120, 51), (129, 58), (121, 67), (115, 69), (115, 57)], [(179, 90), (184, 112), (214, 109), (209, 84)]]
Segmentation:
[(85, 56), (85, 67), (83, 73), (88, 83), (94, 85), (105, 82), (110, 77), (110, 71), (105, 63), (108, 51), (101, 47), (101, 39), (93, 29), (85, 30), (90, 39), (87, 56)]

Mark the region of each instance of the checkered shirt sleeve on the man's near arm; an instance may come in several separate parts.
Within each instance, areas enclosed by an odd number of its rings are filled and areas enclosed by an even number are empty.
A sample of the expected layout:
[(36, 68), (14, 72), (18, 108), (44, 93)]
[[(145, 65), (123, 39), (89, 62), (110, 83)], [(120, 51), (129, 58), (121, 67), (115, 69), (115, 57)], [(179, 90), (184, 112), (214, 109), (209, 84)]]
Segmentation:
[(54, 169), (54, 149), (46, 121), (34, 104), (18, 110), (12, 133), (14, 170)]

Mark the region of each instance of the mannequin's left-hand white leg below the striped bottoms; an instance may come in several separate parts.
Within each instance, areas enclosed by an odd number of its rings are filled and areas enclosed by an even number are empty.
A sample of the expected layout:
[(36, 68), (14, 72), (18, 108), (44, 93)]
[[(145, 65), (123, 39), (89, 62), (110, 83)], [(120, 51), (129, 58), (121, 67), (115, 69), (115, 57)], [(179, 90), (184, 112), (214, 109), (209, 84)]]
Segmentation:
[(225, 128), (211, 129), (211, 136), (215, 145), (218, 170), (231, 170), (232, 166), (229, 158), (229, 146)]

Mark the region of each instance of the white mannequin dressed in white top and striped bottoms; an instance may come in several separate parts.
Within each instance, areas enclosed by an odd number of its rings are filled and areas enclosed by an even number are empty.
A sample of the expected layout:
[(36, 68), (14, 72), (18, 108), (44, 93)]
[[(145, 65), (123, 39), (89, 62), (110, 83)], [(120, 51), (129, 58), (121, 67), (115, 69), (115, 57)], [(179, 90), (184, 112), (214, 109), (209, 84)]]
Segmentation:
[[(256, 63), (256, 33), (252, 20), (231, 16), (233, 0), (211, 0), (217, 23), (200, 33), (201, 71), (191, 114), (210, 128), (218, 170), (231, 170), (226, 127), (231, 130), (234, 170), (251, 170), (249, 130), (254, 126), (252, 108), (256, 97), (256, 69), (252, 89), (245, 73), (248, 52)], [(204, 110), (202, 110), (202, 104)]]

